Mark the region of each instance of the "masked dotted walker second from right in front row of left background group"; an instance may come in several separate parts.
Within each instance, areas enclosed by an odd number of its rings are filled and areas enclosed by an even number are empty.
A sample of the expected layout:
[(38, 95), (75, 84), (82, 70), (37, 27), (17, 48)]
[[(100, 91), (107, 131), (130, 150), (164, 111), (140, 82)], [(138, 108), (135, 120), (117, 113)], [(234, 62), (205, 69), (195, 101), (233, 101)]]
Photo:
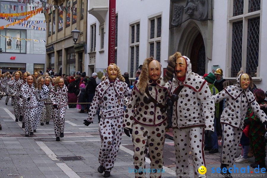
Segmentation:
[(38, 85), (38, 92), (37, 92), (38, 110), (37, 110), (36, 119), (34, 121), (34, 132), (36, 132), (37, 125), (41, 118), (42, 110), (45, 106), (45, 102), (41, 100), (46, 100), (49, 94), (49, 91), (50, 91), (49, 88), (45, 85), (45, 79), (42, 78), (41, 76), (37, 80), (37, 85)]

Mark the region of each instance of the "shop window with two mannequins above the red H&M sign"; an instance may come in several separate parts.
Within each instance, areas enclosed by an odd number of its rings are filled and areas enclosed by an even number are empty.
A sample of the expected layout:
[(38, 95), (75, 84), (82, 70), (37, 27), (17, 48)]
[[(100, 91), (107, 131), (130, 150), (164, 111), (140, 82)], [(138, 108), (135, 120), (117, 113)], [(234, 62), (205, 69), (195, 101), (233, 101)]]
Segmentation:
[(3, 52), (26, 53), (26, 40), (19, 39), (26, 38), (26, 30), (3, 29), (0, 30), (0, 34), (7, 37), (0, 37), (0, 48)]

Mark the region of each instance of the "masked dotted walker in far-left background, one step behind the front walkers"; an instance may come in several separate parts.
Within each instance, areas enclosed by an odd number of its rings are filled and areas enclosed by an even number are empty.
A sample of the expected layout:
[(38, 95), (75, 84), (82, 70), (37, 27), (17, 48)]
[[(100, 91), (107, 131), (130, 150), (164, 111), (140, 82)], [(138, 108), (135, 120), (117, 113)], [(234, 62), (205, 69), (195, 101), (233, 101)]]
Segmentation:
[(15, 121), (18, 122), (19, 118), (22, 121), (23, 118), (23, 109), (20, 107), (19, 104), (19, 96), (20, 96), (20, 85), (24, 82), (22, 80), (22, 72), (21, 71), (16, 71), (15, 74), (15, 79), (10, 82), (10, 86), (12, 86), (12, 96), (14, 100), (14, 113), (15, 113)]

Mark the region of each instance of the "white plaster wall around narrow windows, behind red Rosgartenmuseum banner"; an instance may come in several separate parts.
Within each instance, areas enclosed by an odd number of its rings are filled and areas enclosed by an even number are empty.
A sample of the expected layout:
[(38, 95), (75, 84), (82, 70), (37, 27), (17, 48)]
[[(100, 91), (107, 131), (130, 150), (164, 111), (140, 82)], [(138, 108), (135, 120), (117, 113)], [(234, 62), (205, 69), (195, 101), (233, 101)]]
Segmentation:
[[(90, 1), (88, 1), (89, 7)], [(153, 4), (153, 6), (152, 6)], [(145, 58), (149, 57), (148, 49), (148, 16), (162, 13), (162, 30), (161, 30), (161, 64), (167, 66), (169, 57), (169, 11), (170, 2), (161, 0), (117, 0), (116, 13), (118, 14), (118, 46), (117, 46), (117, 64), (121, 72), (129, 72), (129, 23), (140, 19), (140, 45), (139, 45), (139, 65), (143, 64)], [(99, 22), (93, 15), (88, 14), (88, 48), (90, 48), (90, 24), (96, 22), (96, 68), (106, 68), (108, 64), (108, 12), (105, 18), (105, 36), (104, 36), (104, 53), (100, 50)], [(88, 55), (88, 54), (87, 54)], [(88, 59), (88, 58), (87, 58)], [(87, 65), (88, 66), (88, 61)], [(86, 68), (88, 71), (88, 67)]]

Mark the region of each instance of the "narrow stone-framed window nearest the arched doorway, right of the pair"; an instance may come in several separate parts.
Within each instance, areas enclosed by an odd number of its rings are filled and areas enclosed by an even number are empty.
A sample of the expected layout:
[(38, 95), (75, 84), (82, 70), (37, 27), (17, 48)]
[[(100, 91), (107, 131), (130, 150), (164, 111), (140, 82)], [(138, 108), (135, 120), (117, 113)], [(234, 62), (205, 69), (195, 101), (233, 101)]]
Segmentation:
[(148, 56), (160, 62), (161, 54), (161, 15), (149, 18)]

